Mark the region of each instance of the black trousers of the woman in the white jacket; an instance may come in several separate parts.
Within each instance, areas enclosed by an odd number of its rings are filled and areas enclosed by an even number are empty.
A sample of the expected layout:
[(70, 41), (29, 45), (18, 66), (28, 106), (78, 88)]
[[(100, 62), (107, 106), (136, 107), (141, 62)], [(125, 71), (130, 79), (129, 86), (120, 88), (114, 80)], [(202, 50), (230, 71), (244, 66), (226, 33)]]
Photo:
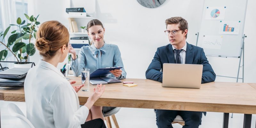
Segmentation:
[(86, 121), (84, 124), (81, 124), (82, 128), (106, 128), (104, 121), (100, 118)]

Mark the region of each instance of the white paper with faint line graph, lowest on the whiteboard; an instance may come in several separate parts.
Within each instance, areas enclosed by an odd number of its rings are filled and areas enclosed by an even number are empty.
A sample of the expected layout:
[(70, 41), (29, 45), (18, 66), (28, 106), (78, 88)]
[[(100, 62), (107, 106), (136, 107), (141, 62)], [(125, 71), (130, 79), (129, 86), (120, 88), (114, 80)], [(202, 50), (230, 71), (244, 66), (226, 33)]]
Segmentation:
[(207, 49), (221, 49), (223, 36), (204, 36), (202, 47)]

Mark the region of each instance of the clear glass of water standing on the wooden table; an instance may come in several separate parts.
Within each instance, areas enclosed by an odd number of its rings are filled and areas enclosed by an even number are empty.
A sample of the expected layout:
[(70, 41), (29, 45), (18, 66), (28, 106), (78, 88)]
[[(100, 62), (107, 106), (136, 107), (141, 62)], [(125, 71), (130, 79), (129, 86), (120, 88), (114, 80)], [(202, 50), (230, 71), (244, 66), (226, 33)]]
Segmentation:
[(82, 91), (89, 91), (90, 87), (90, 69), (82, 69)]

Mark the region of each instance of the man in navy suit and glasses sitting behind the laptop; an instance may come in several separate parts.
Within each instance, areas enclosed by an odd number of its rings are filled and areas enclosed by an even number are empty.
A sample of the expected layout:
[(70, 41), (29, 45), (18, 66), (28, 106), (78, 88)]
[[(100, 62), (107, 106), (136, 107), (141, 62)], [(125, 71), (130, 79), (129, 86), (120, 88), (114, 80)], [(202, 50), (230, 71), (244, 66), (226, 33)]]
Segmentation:
[[(146, 78), (163, 81), (163, 64), (202, 64), (203, 74), (202, 82), (213, 82), (216, 75), (209, 64), (203, 48), (188, 44), (186, 42), (188, 34), (188, 22), (181, 17), (172, 17), (165, 20), (166, 31), (170, 44), (157, 48), (154, 59), (148, 66)], [(182, 76), (180, 76), (182, 77)], [(156, 109), (156, 125), (158, 128), (173, 128), (172, 122), (177, 115), (180, 115), (185, 121), (182, 128), (198, 128), (201, 125), (203, 112), (178, 111), (178, 110), (159, 110)], [(206, 115), (206, 112), (204, 112)]]

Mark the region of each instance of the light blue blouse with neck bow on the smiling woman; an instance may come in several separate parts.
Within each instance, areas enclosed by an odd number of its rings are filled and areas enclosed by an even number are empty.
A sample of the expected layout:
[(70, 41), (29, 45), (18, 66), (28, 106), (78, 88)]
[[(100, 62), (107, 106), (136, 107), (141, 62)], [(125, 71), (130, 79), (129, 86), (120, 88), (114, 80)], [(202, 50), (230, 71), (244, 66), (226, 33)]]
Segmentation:
[[(101, 56), (97, 54), (102, 52)], [(78, 59), (73, 60), (71, 57), (71, 68), (75, 76), (81, 75), (81, 69), (89, 68), (90, 74), (97, 70), (98, 68), (106, 67), (123, 67), (122, 77), (126, 77), (126, 72), (124, 70), (124, 64), (121, 58), (121, 53), (117, 45), (114, 44), (104, 44), (103, 47), (97, 49), (94, 44), (90, 46), (84, 46), (80, 49), (78, 54)], [(115, 77), (113, 74), (109, 77)]]

